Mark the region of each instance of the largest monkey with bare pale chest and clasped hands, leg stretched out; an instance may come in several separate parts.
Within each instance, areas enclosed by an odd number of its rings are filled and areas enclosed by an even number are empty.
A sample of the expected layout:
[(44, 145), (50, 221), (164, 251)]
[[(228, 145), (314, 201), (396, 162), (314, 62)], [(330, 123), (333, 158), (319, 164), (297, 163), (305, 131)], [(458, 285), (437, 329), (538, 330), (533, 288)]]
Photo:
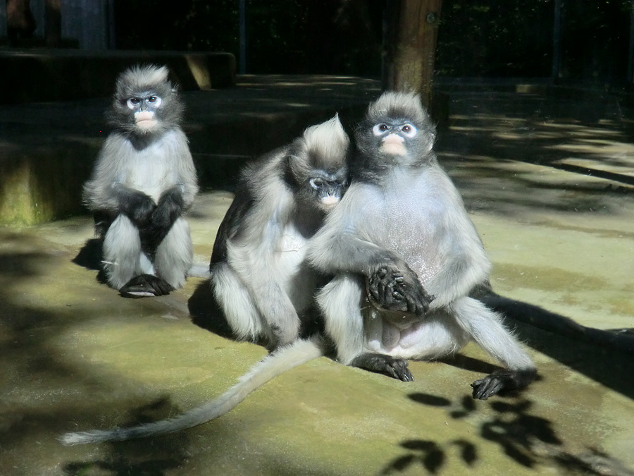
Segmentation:
[(337, 274), (317, 300), (338, 360), (409, 381), (406, 359), (440, 358), (473, 339), (505, 367), (473, 382), (474, 398), (528, 385), (533, 362), (501, 317), (469, 297), (491, 265), (437, 163), (420, 99), (384, 93), (355, 137), (352, 184), (309, 249), (314, 266)]

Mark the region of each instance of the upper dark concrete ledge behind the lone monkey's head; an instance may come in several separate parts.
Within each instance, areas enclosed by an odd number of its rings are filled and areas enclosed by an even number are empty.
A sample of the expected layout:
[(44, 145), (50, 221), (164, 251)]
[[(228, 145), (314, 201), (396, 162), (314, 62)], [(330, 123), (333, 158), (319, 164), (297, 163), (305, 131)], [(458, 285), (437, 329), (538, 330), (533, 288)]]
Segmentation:
[(0, 51), (0, 104), (104, 97), (137, 63), (165, 64), (182, 90), (235, 85), (235, 56), (182, 51)]

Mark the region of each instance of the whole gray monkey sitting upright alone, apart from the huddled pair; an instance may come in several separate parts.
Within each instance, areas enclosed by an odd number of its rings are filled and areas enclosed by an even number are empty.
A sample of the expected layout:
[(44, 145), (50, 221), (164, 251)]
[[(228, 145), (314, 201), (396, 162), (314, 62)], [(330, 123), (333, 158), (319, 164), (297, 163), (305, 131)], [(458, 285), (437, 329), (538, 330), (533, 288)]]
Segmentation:
[(117, 79), (104, 142), (84, 201), (103, 238), (108, 284), (122, 295), (182, 287), (192, 239), (182, 214), (198, 191), (182, 103), (165, 67), (137, 66)]

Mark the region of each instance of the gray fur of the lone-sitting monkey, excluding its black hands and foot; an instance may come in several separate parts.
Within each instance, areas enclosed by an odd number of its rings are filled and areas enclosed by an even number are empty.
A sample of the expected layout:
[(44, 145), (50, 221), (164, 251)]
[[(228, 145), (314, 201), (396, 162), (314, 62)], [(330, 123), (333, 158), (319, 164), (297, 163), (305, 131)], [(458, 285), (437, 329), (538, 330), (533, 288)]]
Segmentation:
[[(134, 97), (161, 98), (161, 104), (132, 110)], [(149, 110), (155, 126), (141, 128), (135, 114)], [(192, 240), (185, 219), (178, 218), (156, 248), (153, 257), (142, 251), (139, 228), (123, 213), (125, 193), (141, 193), (156, 206), (161, 194), (176, 187), (183, 211), (191, 207), (198, 192), (196, 170), (187, 138), (180, 128), (182, 103), (168, 80), (165, 67), (137, 66), (117, 80), (108, 113), (113, 131), (97, 157), (92, 176), (84, 185), (85, 205), (111, 217), (104, 233), (104, 271), (116, 289), (139, 274), (153, 274), (180, 288), (192, 267)]]

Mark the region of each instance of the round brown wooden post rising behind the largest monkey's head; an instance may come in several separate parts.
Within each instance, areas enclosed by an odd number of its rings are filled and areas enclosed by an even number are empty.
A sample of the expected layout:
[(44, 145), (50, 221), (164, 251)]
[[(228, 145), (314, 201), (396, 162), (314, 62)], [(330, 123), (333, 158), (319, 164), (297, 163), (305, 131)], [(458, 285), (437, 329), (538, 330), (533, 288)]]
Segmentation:
[(388, 0), (383, 87), (418, 92), (430, 106), (442, 0)]

